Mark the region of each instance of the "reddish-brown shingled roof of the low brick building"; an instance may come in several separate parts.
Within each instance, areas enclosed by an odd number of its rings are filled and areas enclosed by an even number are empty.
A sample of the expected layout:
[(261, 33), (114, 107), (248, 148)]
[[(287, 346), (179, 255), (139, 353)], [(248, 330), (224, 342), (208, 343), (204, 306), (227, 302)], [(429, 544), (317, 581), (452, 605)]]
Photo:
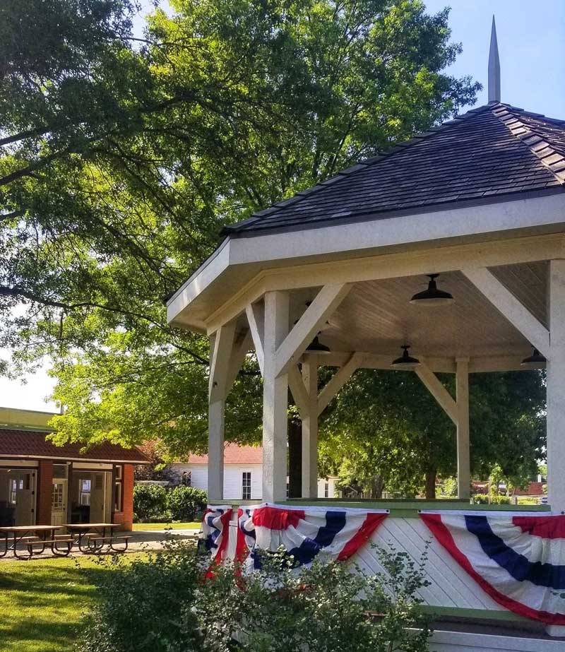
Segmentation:
[(148, 458), (136, 448), (104, 442), (83, 450), (83, 444), (55, 446), (48, 432), (0, 428), (0, 457), (49, 458), (73, 461), (128, 462), (147, 464)]

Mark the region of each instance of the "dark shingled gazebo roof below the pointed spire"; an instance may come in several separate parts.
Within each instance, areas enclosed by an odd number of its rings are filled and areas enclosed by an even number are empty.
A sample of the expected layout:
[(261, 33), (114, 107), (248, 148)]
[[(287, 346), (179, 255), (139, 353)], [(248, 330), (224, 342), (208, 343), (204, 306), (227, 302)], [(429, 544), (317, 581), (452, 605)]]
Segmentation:
[(248, 220), (231, 237), (331, 221), (421, 213), (447, 203), (496, 201), (565, 190), (565, 121), (501, 102), (471, 109), (299, 192)]

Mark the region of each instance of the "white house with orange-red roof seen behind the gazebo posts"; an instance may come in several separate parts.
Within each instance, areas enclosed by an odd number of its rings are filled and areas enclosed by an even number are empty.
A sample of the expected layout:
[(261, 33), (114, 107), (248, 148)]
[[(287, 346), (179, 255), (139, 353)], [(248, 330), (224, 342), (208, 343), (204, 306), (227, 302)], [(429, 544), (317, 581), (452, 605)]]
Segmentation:
[[(169, 466), (180, 478), (190, 474), (192, 487), (208, 491), (208, 455), (191, 455), (185, 462), (174, 462)], [(224, 498), (237, 500), (261, 500), (263, 478), (263, 448), (261, 446), (237, 446), (227, 444), (224, 448)], [(338, 478), (331, 475), (318, 479), (318, 497), (338, 496), (335, 483)]]

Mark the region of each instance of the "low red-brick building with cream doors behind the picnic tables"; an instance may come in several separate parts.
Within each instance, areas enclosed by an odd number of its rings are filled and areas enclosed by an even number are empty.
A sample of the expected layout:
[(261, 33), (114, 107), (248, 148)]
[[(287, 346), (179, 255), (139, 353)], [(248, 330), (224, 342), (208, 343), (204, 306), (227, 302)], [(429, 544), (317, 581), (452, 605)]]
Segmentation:
[(52, 413), (0, 408), (0, 526), (133, 522), (136, 448), (55, 446)]

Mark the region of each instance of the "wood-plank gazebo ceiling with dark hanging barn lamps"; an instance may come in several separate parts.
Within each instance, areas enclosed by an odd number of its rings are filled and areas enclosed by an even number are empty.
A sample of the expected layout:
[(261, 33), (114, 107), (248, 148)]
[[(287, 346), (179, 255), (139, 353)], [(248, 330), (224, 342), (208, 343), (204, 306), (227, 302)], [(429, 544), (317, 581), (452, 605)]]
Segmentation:
[[(547, 325), (547, 262), (492, 268), (494, 275)], [(409, 276), (356, 283), (323, 328), (320, 341), (333, 351), (362, 351), (393, 357), (400, 345), (429, 357), (525, 356), (530, 343), (456, 271), (440, 275), (439, 287), (453, 294), (445, 307), (420, 307), (410, 297), (427, 278)], [(292, 319), (304, 311), (317, 288), (293, 292)]]

